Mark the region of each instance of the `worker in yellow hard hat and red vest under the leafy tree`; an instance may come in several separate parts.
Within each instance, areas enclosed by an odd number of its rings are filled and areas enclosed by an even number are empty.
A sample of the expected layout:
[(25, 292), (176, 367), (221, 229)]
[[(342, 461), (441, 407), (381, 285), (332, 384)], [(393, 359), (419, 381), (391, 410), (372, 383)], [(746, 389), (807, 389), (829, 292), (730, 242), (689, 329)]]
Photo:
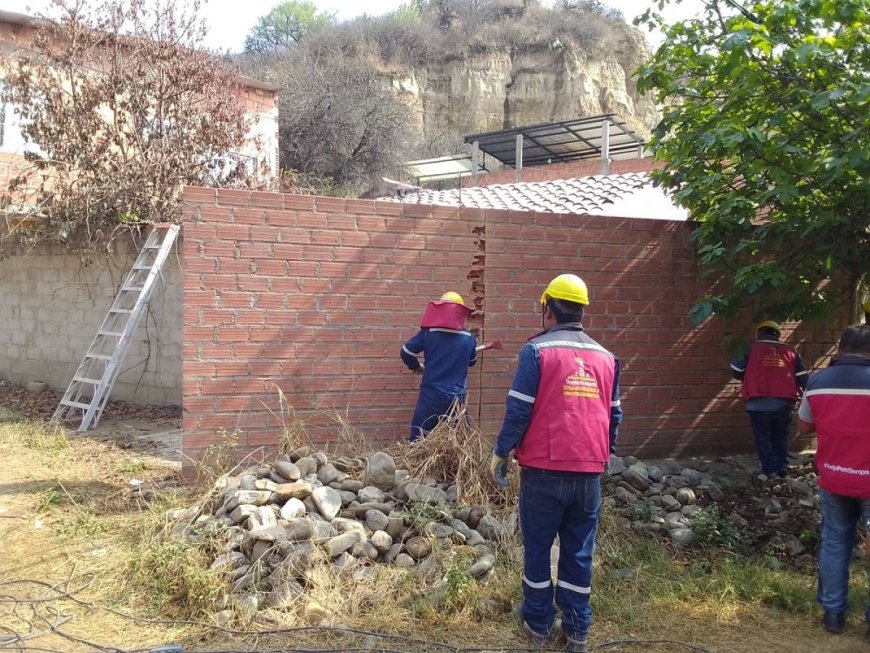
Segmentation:
[(788, 473), (791, 414), (807, 384), (800, 354), (780, 342), (782, 329), (772, 320), (755, 328), (749, 353), (731, 361), (731, 376), (743, 382), (745, 402), (761, 473), (768, 477)]

